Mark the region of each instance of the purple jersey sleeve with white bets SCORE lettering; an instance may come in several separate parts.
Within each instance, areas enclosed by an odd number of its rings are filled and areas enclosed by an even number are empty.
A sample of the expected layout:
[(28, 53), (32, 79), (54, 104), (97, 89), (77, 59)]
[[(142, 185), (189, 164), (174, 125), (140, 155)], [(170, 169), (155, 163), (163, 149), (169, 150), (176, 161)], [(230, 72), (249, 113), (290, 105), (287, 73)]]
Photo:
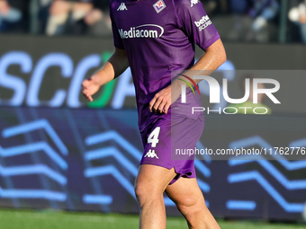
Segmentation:
[[(200, 0), (179, 0), (175, 10), (179, 28), (200, 48), (209, 48), (220, 35)], [(177, 3), (176, 2), (176, 3)]]

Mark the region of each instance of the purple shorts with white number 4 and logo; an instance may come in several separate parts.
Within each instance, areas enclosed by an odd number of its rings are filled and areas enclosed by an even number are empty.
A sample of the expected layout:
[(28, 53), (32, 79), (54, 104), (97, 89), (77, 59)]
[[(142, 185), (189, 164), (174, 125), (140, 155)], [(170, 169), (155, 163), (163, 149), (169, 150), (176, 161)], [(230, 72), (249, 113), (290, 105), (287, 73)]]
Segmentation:
[(169, 184), (180, 177), (195, 178), (193, 157), (177, 160), (175, 149), (194, 149), (203, 128), (203, 117), (190, 119), (172, 115), (171, 119), (158, 118), (140, 132), (144, 145), (140, 164), (153, 164), (169, 170), (175, 168), (175, 179)]

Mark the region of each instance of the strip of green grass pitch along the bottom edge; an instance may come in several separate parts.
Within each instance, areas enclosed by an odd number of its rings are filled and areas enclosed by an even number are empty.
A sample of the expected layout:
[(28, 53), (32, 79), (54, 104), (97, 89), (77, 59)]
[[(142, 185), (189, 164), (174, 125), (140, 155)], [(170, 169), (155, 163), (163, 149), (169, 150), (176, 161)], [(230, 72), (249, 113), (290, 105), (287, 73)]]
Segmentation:
[[(306, 225), (219, 220), (223, 229), (305, 229)], [(1, 229), (137, 229), (139, 216), (0, 209)], [(183, 217), (168, 217), (167, 229), (186, 229)]]

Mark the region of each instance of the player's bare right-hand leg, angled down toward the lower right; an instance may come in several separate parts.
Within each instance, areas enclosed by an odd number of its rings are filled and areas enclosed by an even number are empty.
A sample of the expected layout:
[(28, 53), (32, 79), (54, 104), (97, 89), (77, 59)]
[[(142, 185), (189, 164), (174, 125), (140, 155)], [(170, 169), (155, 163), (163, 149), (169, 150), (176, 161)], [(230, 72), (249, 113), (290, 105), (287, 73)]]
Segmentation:
[(195, 178), (180, 178), (167, 186), (166, 194), (187, 220), (189, 228), (220, 229), (220, 226), (206, 207), (202, 191)]

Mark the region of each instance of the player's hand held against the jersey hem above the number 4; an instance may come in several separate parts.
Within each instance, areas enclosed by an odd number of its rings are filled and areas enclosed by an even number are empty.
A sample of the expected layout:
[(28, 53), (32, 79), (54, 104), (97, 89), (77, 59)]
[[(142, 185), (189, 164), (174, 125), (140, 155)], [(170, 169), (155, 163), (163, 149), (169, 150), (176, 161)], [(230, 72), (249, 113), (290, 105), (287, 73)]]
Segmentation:
[(171, 105), (171, 85), (157, 92), (154, 98), (149, 102), (148, 109), (150, 112), (167, 113)]

